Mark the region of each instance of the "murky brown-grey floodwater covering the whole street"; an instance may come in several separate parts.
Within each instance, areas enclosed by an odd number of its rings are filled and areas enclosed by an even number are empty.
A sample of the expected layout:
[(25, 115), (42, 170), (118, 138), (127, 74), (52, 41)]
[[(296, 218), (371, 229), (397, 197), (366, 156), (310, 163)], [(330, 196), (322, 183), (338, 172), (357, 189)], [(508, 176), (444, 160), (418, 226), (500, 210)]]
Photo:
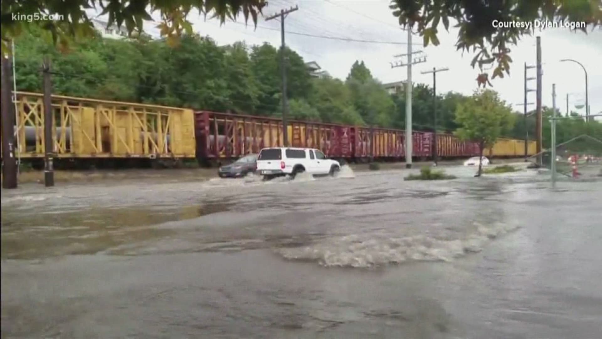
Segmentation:
[(602, 182), (446, 171), (2, 191), (2, 338), (601, 338)]

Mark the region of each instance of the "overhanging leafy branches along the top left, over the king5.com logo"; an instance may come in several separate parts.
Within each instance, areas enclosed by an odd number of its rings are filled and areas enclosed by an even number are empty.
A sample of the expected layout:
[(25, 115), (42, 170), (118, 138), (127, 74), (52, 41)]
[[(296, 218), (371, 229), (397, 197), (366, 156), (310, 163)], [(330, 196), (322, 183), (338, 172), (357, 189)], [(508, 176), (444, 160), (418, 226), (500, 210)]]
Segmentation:
[[(8, 48), (8, 40), (19, 36), (24, 30), (40, 27), (45, 36), (51, 37), (55, 43), (66, 47), (72, 38), (89, 37), (95, 34), (87, 10), (96, 8), (101, 14), (108, 14), (108, 24), (125, 26), (129, 33), (140, 33), (144, 20), (152, 20), (151, 14), (158, 12), (161, 16), (161, 36), (167, 37), (170, 45), (178, 42), (182, 33), (192, 34), (193, 28), (186, 18), (191, 11), (198, 11), (205, 16), (218, 17), (222, 24), (226, 17), (236, 20), (243, 14), (244, 21), (252, 19), (257, 24), (257, 16), (267, 5), (265, 0), (197, 0), (197, 1), (159, 1), (159, 0), (73, 0), (73, 1), (2, 1), (2, 51)], [(58, 16), (60, 20), (13, 20), (12, 14), (23, 16), (46, 14)]]

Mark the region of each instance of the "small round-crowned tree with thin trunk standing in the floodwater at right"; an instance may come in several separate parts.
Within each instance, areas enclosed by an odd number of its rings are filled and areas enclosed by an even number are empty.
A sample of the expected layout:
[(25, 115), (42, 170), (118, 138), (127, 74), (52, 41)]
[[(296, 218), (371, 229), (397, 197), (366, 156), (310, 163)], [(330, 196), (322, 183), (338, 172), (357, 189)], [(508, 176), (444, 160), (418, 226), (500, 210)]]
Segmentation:
[(493, 90), (477, 90), (473, 96), (456, 109), (456, 122), (461, 126), (455, 134), (464, 141), (479, 144), (479, 172), (482, 173), (482, 157), (485, 147), (492, 147), (497, 138), (512, 128), (512, 110), (500, 100)]

